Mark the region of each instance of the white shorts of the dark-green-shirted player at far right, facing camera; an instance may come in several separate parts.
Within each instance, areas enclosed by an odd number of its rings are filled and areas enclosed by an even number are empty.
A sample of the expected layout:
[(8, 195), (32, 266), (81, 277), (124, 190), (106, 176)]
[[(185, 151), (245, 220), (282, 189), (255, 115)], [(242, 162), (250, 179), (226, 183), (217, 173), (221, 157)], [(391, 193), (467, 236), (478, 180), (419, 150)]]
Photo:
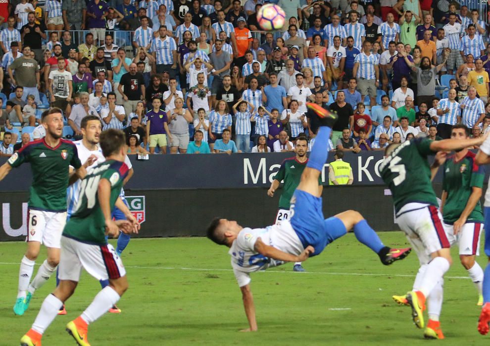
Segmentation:
[(483, 222), (465, 223), (458, 234), (454, 235), (452, 225), (444, 223), (444, 230), (451, 246), (458, 244), (459, 255), (480, 256), (480, 234)]

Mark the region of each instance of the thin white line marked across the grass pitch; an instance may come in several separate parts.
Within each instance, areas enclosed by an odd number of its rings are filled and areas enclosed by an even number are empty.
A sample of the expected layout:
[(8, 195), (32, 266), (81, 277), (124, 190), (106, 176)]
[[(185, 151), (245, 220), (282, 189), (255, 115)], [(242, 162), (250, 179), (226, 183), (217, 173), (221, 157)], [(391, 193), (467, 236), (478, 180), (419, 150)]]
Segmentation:
[[(20, 263), (12, 262), (0, 262), (0, 265), (19, 265)], [(40, 265), (40, 263), (36, 263)], [(186, 268), (186, 267), (151, 267), (144, 265), (125, 265), (126, 268), (132, 269), (163, 269), (163, 270), (196, 270), (196, 271), (233, 271), (233, 269), (219, 269), (219, 268)], [(293, 275), (353, 275), (353, 276), (394, 276), (394, 277), (415, 277), (415, 275), (409, 274), (384, 274), (384, 273), (342, 273), (342, 272), (329, 272), (329, 271), (305, 271), (297, 273), (294, 271), (283, 270), (259, 270), (258, 273), (280, 273), (280, 274), (293, 274)], [(444, 276), (446, 279), (462, 279), (468, 280), (468, 276)]]

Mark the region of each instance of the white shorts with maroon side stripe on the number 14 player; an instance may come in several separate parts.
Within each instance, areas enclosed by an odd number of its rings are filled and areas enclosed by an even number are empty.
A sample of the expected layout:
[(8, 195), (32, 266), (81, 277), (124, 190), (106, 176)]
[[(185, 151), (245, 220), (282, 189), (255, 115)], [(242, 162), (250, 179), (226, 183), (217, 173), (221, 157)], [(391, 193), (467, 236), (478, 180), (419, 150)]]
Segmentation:
[(118, 279), (126, 275), (122, 260), (112, 245), (94, 245), (68, 237), (61, 238), (58, 277), (78, 282), (84, 268), (97, 280)]

